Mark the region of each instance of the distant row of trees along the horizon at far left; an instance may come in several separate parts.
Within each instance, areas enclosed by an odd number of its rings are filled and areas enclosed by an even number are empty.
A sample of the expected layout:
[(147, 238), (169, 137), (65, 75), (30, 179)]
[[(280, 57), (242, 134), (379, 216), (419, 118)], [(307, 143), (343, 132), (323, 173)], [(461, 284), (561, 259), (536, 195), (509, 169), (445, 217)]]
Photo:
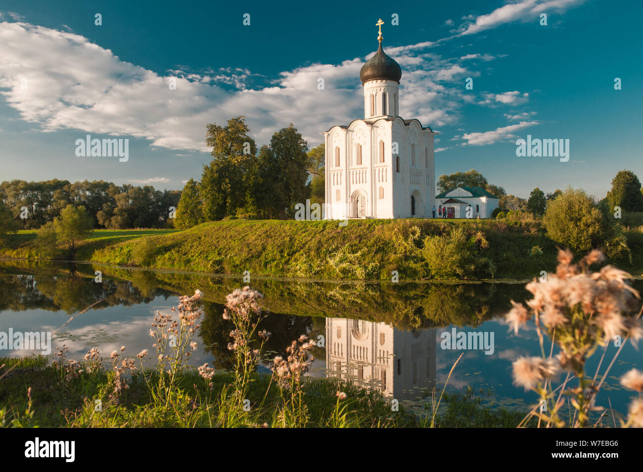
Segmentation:
[(0, 183), (0, 221), (12, 221), (12, 230), (37, 229), (72, 205), (84, 206), (93, 228), (165, 228), (173, 225), (170, 207), (176, 208), (180, 197), (179, 190), (161, 192), (149, 185), (102, 180), (4, 181)]

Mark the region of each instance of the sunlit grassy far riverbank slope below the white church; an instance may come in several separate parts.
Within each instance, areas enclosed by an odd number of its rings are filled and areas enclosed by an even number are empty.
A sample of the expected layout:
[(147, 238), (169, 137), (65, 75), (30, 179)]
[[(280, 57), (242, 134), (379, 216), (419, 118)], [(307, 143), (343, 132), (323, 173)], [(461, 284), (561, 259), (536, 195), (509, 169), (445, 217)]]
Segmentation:
[[(643, 273), (640, 233), (633, 258), (610, 261)], [(9, 237), (0, 257), (37, 259), (35, 233)], [(350, 220), (208, 222), (189, 230), (97, 230), (77, 260), (250, 277), (323, 280), (486, 280), (539, 277), (556, 265), (556, 242), (539, 221)]]

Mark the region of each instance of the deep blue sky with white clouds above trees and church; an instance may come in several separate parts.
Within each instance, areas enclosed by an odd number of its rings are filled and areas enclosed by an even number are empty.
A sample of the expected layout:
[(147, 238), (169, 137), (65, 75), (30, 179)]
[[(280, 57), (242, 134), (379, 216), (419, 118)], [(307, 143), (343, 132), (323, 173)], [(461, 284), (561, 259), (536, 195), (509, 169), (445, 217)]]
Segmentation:
[[(401, 115), (440, 133), (436, 174), (476, 168), (521, 197), (567, 185), (603, 197), (622, 168), (643, 178), (640, 2), (392, 5), (2, 0), (0, 180), (182, 188), (210, 161), (206, 123), (237, 114), (258, 145), (292, 122), (314, 147), (363, 118), (359, 68), (380, 17)], [(78, 158), (86, 134), (128, 138), (129, 160)], [(527, 134), (570, 140), (569, 161), (517, 157)]]

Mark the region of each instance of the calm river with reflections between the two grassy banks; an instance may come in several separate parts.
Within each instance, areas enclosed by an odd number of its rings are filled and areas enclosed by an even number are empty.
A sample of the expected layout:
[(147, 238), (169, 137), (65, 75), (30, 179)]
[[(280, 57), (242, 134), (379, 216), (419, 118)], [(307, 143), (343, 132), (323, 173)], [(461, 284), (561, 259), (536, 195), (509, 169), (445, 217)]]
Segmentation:
[[(95, 271), (102, 282), (95, 282)], [(104, 358), (125, 345), (124, 354), (135, 356), (152, 348), (150, 323), (157, 310), (168, 313), (177, 296), (204, 293), (204, 318), (197, 333), (193, 365), (210, 363), (230, 368), (226, 348), (231, 325), (222, 320), (225, 296), (249, 285), (264, 294), (269, 315), (262, 327), (272, 333), (266, 358), (284, 354), (301, 334), (320, 341), (314, 350), (311, 376), (341, 376), (377, 389), (401, 402), (417, 403), (434, 386), (440, 390), (451, 366), (464, 352), (448, 383), (448, 391), (473, 389), (483, 403), (529, 411), (536, 403), (532, 392), (512, 385), (511, 363), (518, 356), (539, 353), (534, 325), (509, 332), (503, 313), (511, 299), (530, 295), (524, 284), (469, 283), (331, 283), (255, 280), (143, 271), (91, 264), (39, 264), (0, 262), (0, 332), (57, 331), (51, 350), (63, 344), (69, 358), (82, 360), (98, 347)], [(633, 284), (643, 289), (641, 281)], [(86, 313), (69, 318), (105, 298)], [(457, 349), (446, 334), (476, 332), (476, 349)], [(469, 336), (472, 340), (474, 336)], [(323, 346), (322, 346), (323, 345)], [(456, 349), (448, 349), (448, 348)], [(447, 348), (447, 349), (445, 349)], [(548, 345), (546, 346), (548, 350)], [(608, 347), (604, 367), (617, 347)], [(1, 350), (3, 356), (24, 356), (28, 350)], [(594, 373), (602, 350), (590, 359)], [(626, 412), (633, 392), (619, 385), (624, 372), (640, 364), (641, 352), (631, 343), (624, 347), (602, 387), (598, 404)], [(267, 362), (262, 366), (267, 371)], [(640, 368), (640, 365), (638, 366)]]

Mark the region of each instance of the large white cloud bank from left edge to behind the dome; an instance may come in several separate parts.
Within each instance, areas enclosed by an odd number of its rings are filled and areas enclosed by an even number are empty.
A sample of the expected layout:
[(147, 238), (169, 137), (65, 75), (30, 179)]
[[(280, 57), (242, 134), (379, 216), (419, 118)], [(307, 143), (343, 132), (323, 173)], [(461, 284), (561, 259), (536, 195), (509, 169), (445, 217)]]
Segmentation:
[[(458, 121), (462, 87), (449, 82), (475, 75), (458, 59), (429, 53), (434, 44), (386, 50), (404, 64), (401, 115), (431, 127)], [(0, 23), (0, 57), (0, 95), (43, 132), (133, 136), (152, 147), (206, 152), (206, 123), (238, 114), (246, 116), (259, 144), (292, 122), (310, 145), (332, 125), (363, 116), (359, 58), (312, 64), (273, 79), (246, 69), (177, 69), (163, 76), (123, 62), (81, 35), (28, 23)], [(28, 80), (26, 90), (21, 78)], [(168, 87), (171, 78), (176, 90)], [(262, 86), (248, 86), (259, 78)]]

